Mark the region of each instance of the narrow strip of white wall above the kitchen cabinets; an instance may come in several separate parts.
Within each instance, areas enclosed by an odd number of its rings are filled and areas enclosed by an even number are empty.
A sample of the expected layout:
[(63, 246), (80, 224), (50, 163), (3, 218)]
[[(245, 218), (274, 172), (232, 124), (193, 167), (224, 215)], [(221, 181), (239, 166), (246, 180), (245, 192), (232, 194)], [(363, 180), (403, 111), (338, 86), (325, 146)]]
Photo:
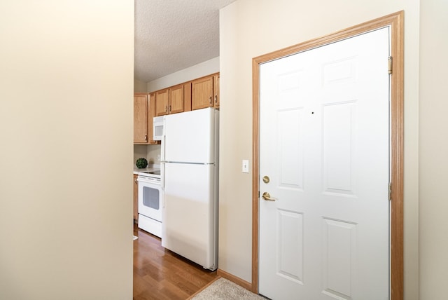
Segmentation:
[(176, 71), (175, 73), (155, 79), (148, 82), (148, 92), (154, 92), (155, 90), (162, 90), (162, 88), (168, 88), (170, 86), (176, 86), (176, 84), (184, 83), (193, 79), (207, 76), (217, 73), (219, 71), (219, 57), (206, 60), (200, 64), (195, 64), (193, 67)]

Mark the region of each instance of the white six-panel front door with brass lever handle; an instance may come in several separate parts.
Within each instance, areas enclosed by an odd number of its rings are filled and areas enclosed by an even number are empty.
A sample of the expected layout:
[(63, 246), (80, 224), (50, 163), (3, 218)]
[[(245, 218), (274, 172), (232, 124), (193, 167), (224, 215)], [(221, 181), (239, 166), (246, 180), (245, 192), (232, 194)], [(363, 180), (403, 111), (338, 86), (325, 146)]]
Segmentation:
[(270, 299), (388, 299), (389, 30), (260, 65)]

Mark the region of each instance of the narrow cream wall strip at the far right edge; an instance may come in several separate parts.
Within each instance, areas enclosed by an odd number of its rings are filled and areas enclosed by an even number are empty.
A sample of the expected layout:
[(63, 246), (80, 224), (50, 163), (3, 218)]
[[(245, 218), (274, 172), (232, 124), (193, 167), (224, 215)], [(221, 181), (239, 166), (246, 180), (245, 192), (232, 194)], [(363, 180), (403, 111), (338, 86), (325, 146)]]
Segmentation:
[(448, 279), (448, 2), (421, 1), (420, 299), (442, 299)]

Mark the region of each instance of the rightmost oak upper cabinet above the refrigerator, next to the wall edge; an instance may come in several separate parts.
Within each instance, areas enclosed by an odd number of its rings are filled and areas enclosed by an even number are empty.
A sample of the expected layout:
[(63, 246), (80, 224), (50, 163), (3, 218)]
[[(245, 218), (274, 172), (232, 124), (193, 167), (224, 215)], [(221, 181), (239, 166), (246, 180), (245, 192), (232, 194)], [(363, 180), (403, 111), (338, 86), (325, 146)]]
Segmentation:
[(219, 107), (219, 74), (205, 76), (191, 82), (191, 108)]

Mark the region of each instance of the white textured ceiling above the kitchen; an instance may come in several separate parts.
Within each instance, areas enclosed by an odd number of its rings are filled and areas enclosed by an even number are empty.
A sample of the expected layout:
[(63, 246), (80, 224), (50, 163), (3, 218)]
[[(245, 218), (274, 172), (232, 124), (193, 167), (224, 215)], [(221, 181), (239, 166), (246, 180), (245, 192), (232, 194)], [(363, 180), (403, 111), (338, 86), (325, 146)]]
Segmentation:
[(219, 56), (219, 9), (235, 0), (134, 0), (134, 79), (148, 82)]

